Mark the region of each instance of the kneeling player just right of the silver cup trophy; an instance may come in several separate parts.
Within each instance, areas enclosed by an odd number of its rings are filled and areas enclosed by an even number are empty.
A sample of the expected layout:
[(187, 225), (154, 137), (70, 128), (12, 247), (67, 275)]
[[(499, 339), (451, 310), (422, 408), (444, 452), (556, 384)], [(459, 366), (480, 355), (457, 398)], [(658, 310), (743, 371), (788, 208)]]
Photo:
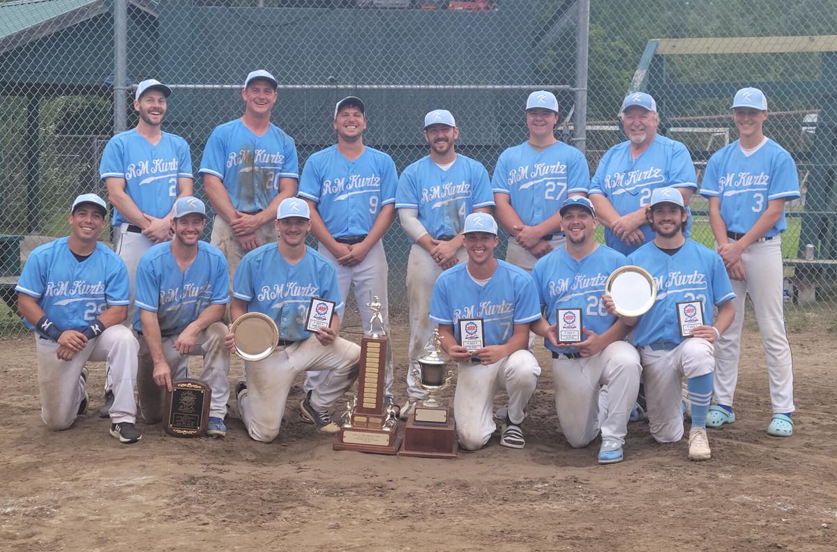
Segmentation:
[[(463, 230), (468, 262), (439, 275), (430, 299), (430, 320), (439, 325), (442, 348), (459, 364), (454, 416), (460, 446), (476, 450), (494, 433), (493, 403), (497, 389), (509, 396), (500, 444), (522, 448), (526, 404), (537, 386), (541, 368), (526, 350), (531, 322), (541, 318), (531, 276), (494, 257), (497, 223), (487, 213), (465, 218)], [(483, 346), (468, 350), (462, 343), (461, 319), (481, 319)]]

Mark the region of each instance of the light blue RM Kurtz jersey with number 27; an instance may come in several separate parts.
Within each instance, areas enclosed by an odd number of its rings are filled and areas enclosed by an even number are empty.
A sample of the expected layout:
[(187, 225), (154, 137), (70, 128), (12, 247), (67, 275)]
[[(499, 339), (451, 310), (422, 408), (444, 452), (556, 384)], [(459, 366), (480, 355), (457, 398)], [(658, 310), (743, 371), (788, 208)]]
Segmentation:
[(567, 193), (587, 193), (590, 169), (584, 154), (573, 146), (556, 142), (537, 151), (529, 142), (500, 154), (491, 186), (507, 194), (517, 216), (527, 226), (552, 217), (567, 199)]

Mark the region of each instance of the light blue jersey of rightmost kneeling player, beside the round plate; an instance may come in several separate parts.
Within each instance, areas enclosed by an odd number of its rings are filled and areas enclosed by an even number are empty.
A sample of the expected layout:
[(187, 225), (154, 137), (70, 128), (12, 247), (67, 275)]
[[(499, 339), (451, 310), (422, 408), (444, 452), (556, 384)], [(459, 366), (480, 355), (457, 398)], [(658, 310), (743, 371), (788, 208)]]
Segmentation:
[(703, 323), (712, 325), (713, 306), (735, 297), (721, 256), (691, 239), (674, 255), (653, 242), (646, 243), (628, 256), (628, 263), (647, 270), (657, 283), (655, 303), (634, 328), (634, 345), (685, 339), (680, 337), (677, 321), (676, 303), (680, 301), (701, 301)]

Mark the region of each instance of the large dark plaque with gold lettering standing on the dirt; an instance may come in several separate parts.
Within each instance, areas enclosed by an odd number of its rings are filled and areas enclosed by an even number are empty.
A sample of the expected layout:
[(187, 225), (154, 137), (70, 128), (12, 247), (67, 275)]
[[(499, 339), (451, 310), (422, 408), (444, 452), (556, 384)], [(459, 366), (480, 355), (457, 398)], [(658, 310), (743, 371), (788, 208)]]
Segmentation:
[(163, 403), (163, 429), (173, 437), (201, 437), (209, 422), (212, 390), (200, 380), (172, 381)]

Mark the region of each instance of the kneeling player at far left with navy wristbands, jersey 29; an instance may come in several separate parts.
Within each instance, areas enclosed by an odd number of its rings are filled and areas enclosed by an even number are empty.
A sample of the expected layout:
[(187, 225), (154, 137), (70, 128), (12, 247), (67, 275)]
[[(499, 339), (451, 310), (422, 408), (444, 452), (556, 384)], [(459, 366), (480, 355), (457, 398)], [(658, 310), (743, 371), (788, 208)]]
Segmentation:
[(35, 248), (18, 280), (18, 310), (35, 330), (41, 417), (54, 431), (67, 429), (87, 411), (88, 360), (105, 361), (113, 381), (110, 435), (137, 442), (136, 351), (139, 345), (121, 322), (128, 309), (125, 263), (99, 234), (105, 227), (101, 197), (75, 198), (69, 236)]

